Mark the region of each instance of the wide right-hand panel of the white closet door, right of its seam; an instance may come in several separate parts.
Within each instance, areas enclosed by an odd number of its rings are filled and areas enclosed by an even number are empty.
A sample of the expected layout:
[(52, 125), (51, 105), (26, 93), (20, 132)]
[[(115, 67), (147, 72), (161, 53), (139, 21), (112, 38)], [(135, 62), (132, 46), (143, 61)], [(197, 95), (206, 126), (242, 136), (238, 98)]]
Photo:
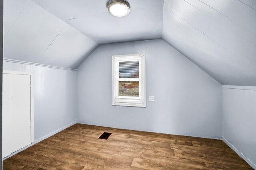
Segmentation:
[(11, 74), (11, 153), (31, 143), (30, 117), (30, 75)]

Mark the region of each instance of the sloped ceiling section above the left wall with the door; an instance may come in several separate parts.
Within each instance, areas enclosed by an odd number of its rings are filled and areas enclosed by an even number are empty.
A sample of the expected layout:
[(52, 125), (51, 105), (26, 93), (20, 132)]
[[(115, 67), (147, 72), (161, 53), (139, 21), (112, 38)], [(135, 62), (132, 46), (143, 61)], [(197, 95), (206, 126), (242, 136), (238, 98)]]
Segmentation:
[(3, 57), (78, 68), (98, 44), (30, 0), (4, 0)]

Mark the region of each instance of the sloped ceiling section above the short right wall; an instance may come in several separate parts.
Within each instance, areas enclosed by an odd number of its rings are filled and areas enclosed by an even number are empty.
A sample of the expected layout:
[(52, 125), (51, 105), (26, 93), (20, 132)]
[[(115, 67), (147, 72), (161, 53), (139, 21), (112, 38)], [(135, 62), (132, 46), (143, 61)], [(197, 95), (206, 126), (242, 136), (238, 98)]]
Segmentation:
[(256, 0), (165, 0), (163, 39), (221, 84), (256, 86)]

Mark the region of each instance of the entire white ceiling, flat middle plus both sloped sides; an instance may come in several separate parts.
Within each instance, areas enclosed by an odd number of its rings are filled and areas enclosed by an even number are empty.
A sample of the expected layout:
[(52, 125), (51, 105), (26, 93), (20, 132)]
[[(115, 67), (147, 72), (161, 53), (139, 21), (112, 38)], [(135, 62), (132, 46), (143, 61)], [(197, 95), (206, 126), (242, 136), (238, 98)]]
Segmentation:
[(256, 86), (256, 0), (4, 0), (4, 58), (78, 68), (101, 44), (164, 39), (221, 84)]

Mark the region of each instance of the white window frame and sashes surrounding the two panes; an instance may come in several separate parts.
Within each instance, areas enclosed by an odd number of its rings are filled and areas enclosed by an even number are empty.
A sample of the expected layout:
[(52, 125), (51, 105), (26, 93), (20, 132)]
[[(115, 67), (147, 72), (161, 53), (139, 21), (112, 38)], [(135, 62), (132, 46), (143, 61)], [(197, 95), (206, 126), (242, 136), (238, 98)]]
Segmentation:
[[(120, 61), (140, 61), (140, 78), (119, 78)], [(118, 96), (118, 81), (140, 81), (139, 97)], [(146, 53), (112, 56), (112, 104), (113, 106), (146, 107)]]

